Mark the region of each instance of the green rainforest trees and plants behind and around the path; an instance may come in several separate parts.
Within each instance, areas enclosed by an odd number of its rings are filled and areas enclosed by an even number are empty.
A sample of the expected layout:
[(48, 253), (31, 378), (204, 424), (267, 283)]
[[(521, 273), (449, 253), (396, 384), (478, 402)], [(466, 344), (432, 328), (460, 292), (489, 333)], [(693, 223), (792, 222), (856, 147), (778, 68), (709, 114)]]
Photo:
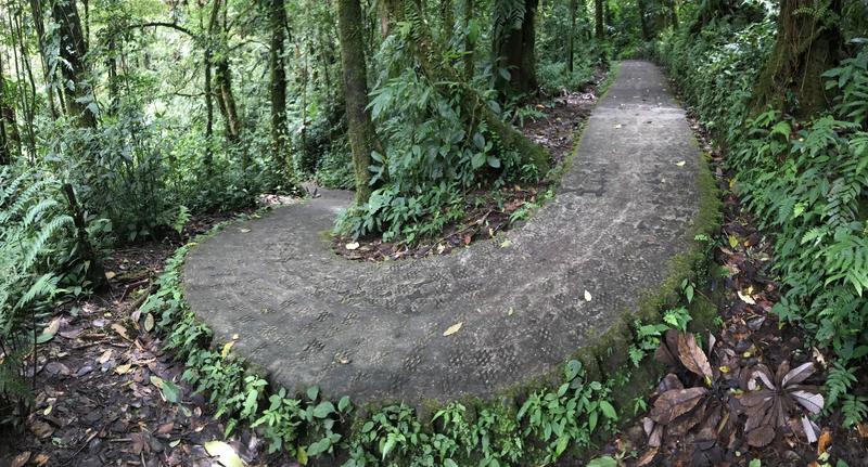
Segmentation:
[(355, 191), (339, 248), (423, 244), (505, 187), (557, 195), (564, 163), (522, 127), (625, 59), (661, 66), (724, 155), (774, 243), (771, 311), (826, 355), (826, 413), (863, 424), (864, 0), (2, 0), (0, 424), (113, 251), (265, 194)]

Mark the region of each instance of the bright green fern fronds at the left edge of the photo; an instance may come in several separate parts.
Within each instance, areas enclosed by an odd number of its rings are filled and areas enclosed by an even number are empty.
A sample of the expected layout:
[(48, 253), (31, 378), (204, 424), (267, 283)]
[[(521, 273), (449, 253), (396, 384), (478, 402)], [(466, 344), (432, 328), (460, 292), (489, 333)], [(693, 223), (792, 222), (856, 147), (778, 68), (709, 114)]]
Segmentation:
[(0, 168), (0, 424), (31, 395), (25, 356), (53, 300), (89, 286), (65, 203), (56, 179)]

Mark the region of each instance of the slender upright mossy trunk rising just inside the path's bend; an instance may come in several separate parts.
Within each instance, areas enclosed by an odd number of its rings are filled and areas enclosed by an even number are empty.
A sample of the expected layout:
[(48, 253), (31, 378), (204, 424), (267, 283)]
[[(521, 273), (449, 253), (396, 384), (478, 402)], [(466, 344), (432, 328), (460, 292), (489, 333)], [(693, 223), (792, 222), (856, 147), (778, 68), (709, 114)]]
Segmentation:
[(349, 127), (349, 146), (356, 171), (356, 203), (371, 195), (371, 153), (380, 146), (368, 112), (368, 75), (365, 62), (362, 15), (359, 0), (337, 0), (337, 34), (344, 68), (344, 100)]

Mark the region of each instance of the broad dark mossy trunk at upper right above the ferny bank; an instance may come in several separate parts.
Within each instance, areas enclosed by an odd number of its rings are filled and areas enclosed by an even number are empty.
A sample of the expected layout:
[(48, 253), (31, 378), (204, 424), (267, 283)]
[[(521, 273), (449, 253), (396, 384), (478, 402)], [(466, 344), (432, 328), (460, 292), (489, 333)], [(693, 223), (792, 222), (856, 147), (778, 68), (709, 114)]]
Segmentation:
[(841, 59), (841, 2), (816, 12), (814, 0), (781, 0), (775, 48), (760, 75), (754, 111), (771, 105), (804, 118), (829, 106), (822, 75)]

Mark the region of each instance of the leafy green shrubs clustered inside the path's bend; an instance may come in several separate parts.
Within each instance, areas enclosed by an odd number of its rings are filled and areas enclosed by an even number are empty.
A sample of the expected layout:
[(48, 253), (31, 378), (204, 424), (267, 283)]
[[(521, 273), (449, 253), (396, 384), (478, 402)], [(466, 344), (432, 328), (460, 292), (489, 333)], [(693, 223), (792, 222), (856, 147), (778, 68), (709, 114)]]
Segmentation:
[[(372, 154), (368, 203), (348, 209), (335, 231), (352, 237), (382, 234), (413, 243), (441, 232), (463, 216), (470, 191), (509, 182), (535, 182), (522, 163), (472, 115), (462, 115), (457, 82), (430, 82), (410, 52), (411, 23), (390, 36), (375, 55), (382, 64), (370, 111), (385, 154)], [(488, 105), (499, 111), (490, 92)]]

